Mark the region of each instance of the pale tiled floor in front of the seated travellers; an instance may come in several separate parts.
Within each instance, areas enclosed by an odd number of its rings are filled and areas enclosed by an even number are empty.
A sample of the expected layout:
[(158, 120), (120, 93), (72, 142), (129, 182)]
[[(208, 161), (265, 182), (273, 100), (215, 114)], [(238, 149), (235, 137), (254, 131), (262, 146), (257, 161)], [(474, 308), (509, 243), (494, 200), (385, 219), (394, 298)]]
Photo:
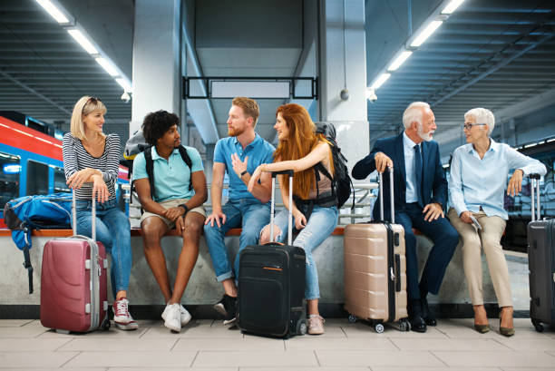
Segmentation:
[(36, 320), (0, 320), (0, 368), (63, 370), (555, 370), (555, 332), (537, 333), (516, 319), (501, 337), (499, 320), (480, 335), (472, 319), (440, 319), (425, 334), (328, 319), (326, 334), (279, 340), (243, 335), (221, 321), (200, 320), (172, 334), (161, 321), (138, 331), (61, 335)]

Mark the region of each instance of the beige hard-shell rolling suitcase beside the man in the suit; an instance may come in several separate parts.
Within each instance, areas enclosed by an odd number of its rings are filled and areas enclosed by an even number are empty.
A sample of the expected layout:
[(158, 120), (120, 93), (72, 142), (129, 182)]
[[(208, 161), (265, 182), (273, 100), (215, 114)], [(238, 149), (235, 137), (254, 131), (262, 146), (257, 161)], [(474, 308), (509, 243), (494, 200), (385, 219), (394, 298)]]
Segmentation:
[(383, 181), (380, 174), (379, 221), (349, 224), (345, 229), (345, 308), (349, 321), (365, 319), (377, 333), (384, 323), (409, 330), (406, 311), (404, 229), (394, 224), (393, 168), (389, 168), (392, 222), (384, 220)]

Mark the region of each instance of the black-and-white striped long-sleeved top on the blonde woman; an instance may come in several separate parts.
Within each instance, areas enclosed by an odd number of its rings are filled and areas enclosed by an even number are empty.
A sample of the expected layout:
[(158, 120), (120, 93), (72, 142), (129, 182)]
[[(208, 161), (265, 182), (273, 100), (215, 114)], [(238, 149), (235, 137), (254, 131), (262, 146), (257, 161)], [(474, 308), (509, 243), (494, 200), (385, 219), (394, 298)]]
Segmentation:
[[(83, 143), (73, 137), (71, 133), (63, 135), (63, 171), (67, 180), (76, 171), (92, 168), (102, 171), (102, 179), (108, 186), (110, 200), (115, 199), (115, 183), (120, 171), (120, 138), (116, 134), (106, 136), (104, 152), (100, 157), (93, 157), (84, 149)], [(93, 198), (93, 183), (84, 183), (79, 190), (75, 190), (77, 200), (91, 200)]]

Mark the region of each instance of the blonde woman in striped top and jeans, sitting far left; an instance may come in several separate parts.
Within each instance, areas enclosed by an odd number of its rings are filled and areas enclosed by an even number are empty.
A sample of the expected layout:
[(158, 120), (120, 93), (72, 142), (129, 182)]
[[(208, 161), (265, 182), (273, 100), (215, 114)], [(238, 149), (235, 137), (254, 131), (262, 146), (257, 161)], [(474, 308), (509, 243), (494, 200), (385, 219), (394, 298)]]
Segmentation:
[(106, 107), (98, 98), (83, 96), (75, 103), (71, 133), (63, 136), (63, 169), (67, 184), (75, 192), (78, 234), (91, 236), (96, 202), (96, 237), (112, 255), (113, 320), (120, 329), (134, 330), (138, 325), (129, 313), (127, 300), (131, 227), (115, 198), (120, 139), (102, 132), (105, 113)]

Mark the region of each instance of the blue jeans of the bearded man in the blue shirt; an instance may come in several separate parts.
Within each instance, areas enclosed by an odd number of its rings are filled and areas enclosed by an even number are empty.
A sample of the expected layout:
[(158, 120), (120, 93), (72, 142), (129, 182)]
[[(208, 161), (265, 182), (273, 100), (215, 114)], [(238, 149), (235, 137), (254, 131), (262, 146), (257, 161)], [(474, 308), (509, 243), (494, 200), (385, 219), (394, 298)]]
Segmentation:
[[(239, 277), (239, 252), (249, 245), (258, 243), (260, 229), (269, 222), (269, 203), (262, 204), (255, 199), (228, 200), (221, 210), (226, 214), (226, 223), (214, 227), (210, 223), (204, 226), (204, 237), (209, 248), (216, 279), (219, 282), (233, 277)], [(229, 262), (228, 249), (224, 243), (224, 237), (229, 229), (239, 228), (239, 251), (235, 257), (235, 275)]]

